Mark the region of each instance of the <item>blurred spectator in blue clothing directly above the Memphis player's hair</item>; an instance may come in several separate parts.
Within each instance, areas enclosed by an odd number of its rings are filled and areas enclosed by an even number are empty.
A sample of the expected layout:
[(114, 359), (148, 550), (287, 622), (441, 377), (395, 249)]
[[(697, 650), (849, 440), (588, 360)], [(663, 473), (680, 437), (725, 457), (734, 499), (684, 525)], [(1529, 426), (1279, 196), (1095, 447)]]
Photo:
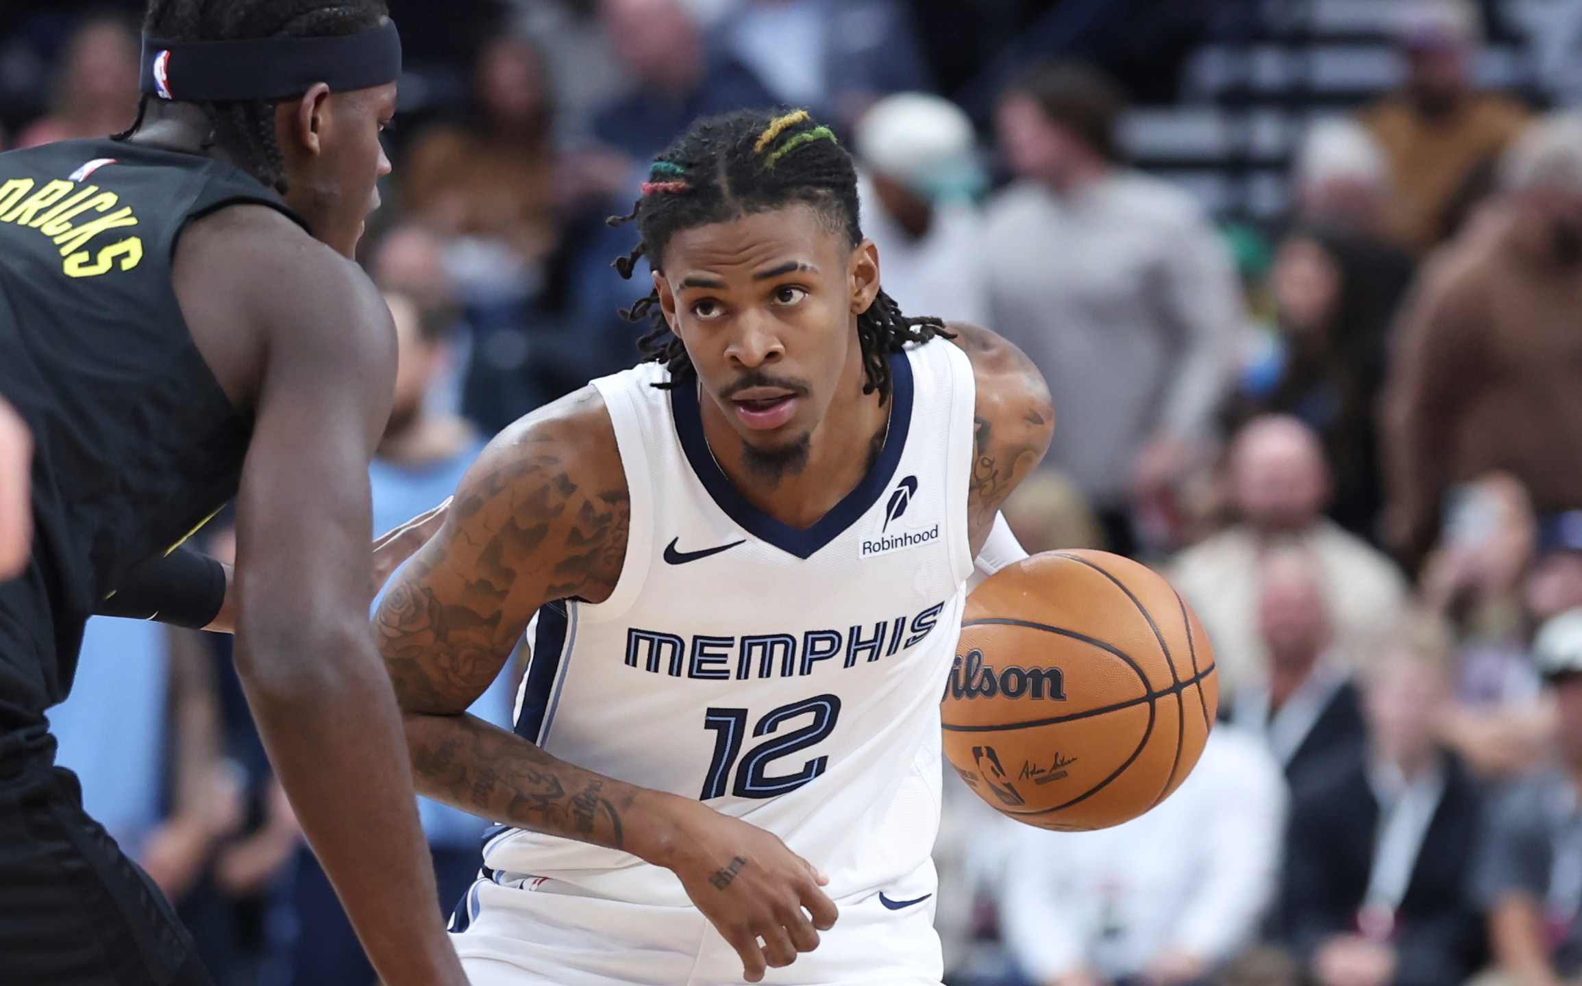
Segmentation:
[(880, 96), (933, 88), (900, 0), (745, 0), (720, 32), (777, 101), (842, 126)]

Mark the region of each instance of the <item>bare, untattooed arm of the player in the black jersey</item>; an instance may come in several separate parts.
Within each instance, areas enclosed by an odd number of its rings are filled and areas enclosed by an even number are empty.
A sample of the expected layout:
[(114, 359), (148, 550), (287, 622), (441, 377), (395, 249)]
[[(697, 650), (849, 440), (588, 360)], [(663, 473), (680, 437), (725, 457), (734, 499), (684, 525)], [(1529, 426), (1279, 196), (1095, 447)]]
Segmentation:
[(258, 207), (195, 223), (174, 284), (204, 359), (255, 408), (233, 596), (236, 667), (271, 763), (381, 978), (460, 983), (367, 632), (389, 310), (350, 261)]

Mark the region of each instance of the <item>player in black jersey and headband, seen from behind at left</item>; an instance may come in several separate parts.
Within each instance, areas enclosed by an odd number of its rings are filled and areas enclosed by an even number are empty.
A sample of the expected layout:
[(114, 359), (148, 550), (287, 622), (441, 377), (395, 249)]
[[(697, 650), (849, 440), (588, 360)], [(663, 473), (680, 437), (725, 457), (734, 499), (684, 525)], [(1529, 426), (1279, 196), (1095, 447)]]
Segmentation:
[(0, 583), (0, 983), (207, 981), (46, 709), (89, 615), (233, 498), (280, 781), (383, 980), (460, 983), (367, 629), (396, 338), (348, 258), (399, 40), (381, 0), (153, 0), (146, 30), (130, 139), (0, 155), (0, 393), (35, 444), (33, 551)]

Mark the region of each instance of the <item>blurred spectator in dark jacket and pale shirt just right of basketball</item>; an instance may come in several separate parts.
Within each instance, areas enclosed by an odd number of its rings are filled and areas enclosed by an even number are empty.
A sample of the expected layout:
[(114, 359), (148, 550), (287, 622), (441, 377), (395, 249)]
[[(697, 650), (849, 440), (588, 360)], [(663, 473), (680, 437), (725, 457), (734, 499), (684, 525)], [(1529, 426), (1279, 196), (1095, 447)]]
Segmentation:
[(1346, 670), (1351, 657), (1335, 646), (1315, 555), (1296, 547), (1270, 550), (1256, 575), (1269, 665), (1220, 709), (1234, 725), (1261, 735), (1291, 790), (1302, 792), (1330, 776), (1338, 758), (1362, 749), (1362, 713)]

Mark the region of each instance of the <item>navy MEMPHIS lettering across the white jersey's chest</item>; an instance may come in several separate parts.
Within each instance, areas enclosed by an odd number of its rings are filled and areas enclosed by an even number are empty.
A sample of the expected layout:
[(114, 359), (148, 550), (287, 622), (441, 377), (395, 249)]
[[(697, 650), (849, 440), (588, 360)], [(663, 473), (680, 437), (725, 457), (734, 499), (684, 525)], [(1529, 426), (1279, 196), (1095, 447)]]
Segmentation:
[[(793, 678), (812, 675), (826, 660), (838, 667), (856, 667), (857, 660), (894, 657), (910, 649), (933, 630), (940, 621), (943, 602), (911, 616), (881, 619), (872, 629), (864, 626), (842, 630), (807, 630), (794, 634), (748, 634), (742, 637), (694, 635), (690, 640), (676, 634), (626, 630), (626, 667), (652, 675), (668, 673), (671, 678), (699, 678), (737, 681), (758, 678)], [(834, 665), (832, 665), (834, 667)]]

